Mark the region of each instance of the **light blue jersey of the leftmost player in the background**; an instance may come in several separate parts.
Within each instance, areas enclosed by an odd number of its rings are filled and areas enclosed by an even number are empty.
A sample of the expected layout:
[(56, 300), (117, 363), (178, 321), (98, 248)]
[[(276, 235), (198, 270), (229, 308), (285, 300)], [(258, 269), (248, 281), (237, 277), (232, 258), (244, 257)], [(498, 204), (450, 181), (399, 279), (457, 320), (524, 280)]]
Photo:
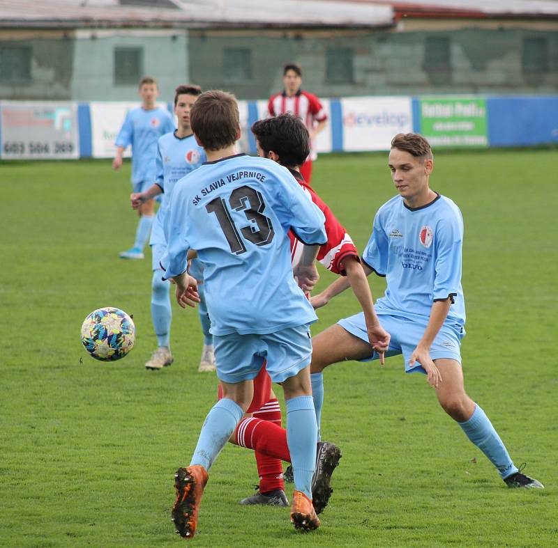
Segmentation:
[[(132, 183), (153, 183), (156, 177), (157, 140), (174, 131), (174, 121), (165, 109), (133, 109), (126, 115), (116, 137), (116, 146), (132, 146)], [(138, 189), (140, 191), (140, 189)]]

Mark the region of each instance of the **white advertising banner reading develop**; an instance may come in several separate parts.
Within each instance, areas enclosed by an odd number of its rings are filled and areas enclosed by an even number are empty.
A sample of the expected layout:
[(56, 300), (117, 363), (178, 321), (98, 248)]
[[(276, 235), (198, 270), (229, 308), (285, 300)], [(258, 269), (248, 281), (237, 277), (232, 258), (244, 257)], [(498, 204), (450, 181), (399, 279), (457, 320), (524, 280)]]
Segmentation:
[(341, 100), (343, 150), (389, 150), (398, 133), (412, 132), (411, 97), (349, 97)]

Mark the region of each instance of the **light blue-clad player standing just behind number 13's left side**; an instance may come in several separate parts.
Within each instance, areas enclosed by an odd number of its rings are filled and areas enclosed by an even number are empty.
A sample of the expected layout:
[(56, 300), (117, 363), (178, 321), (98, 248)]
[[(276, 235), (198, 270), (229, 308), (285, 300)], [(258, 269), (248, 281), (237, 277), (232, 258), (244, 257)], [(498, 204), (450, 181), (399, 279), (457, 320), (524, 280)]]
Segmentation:
[[(153, 228), (151, 229), (151, 245), (153, 279), (151, 281), (151, 318), (157, 336), (158, 347), (151, 359), (146, 362), (147, 369), (160, 370), (169, 366), (172, 361), (170, 352), (170, 324), (172, 310), (169, 298), (168, 281), (161, 279), (160, 259), (163, 256), (167, 240), (165, 237), (164, 220), (167, 213), (172, 189), (176, 182), (205, 162), (204, 149), (200, 147), (192, 133), (190, 126), (190, 110), (193, 107), (202, 88), (194, 85), (178, 86), (174, 93), (174, 113), (178, 120), (178, 128), (159, 138), (157, 144), (157, 177), (156, 182), (144, 192), (130, 196), (132, 207), (140, 208), (142, 204), (153, 200), (163, 193), (163, 201), (157, 211)], [(203, 279), (202, 265), (193, 259), (190, 265), (190, 274), (197, 280)], [(213, 336), (209, 332), (209, 316), (205, 307), (203, 295), (204, 285), (199, 285), (199, 320), (204, 334), (204, 348), (202, 359), (199, 362), (199, 371), (215, 370), (213, 355)]]

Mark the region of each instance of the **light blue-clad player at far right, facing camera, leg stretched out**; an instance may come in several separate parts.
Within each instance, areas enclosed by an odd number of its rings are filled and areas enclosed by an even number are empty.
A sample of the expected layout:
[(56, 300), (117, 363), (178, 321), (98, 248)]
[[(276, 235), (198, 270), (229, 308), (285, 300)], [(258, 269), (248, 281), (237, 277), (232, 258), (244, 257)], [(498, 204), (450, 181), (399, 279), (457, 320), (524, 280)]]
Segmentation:
[[(375, 307), (391, 334), (386, 356), (402, 354), (407, 373), (426, 373), (442, 409), (494, 464), (510, 487), (539, 487), (513, 464), (483, 409), (465, 392), (460, 341), (465, 336), (461, 288), (463, 220), (455, 203), (430, 189), (430, 145), (418, 134), (391, 142), (389, 168), (398, 196), (379, 208), (363, 253), (365, 272), (386, 276)], [(335, 281), (312, 299), (315, 308), (345, 289)], [(368, 343), (362, 313), (340, 320), (312, 340), (312, 389), (319, 423), (324, 368), (346, 359), (377, 358)]]

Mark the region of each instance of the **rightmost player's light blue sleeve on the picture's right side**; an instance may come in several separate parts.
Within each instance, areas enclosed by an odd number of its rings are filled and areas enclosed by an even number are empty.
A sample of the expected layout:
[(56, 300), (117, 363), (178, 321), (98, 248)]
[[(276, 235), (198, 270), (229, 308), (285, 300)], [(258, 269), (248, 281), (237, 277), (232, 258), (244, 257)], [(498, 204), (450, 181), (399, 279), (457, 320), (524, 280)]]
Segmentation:
[(438, 221), (435, 233), (435, 279), (432, 299), (446, 300), (459, 294), (463, 222), (460, 214)]

